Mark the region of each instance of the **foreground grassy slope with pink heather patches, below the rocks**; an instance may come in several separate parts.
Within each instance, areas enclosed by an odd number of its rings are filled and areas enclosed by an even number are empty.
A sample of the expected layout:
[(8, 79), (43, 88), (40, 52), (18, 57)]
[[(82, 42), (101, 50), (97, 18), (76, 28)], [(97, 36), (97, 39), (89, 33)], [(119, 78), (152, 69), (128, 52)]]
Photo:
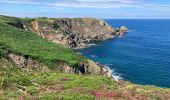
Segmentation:
[(0, 59), (0, 100), (168, 100), (170, 89), (117, 83), (107, 77), (24, 71)]

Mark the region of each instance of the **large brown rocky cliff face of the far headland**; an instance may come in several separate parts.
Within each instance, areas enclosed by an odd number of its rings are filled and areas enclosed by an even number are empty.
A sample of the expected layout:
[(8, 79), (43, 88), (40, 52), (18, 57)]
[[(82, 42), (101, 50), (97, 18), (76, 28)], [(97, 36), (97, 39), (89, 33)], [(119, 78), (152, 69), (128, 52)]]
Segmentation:
[(27, 29), (42, 38), (70, 48), (84, 48), (91, 42), (106, 40), (124, 33), (103, 20), (92, 18), (35, 19)]

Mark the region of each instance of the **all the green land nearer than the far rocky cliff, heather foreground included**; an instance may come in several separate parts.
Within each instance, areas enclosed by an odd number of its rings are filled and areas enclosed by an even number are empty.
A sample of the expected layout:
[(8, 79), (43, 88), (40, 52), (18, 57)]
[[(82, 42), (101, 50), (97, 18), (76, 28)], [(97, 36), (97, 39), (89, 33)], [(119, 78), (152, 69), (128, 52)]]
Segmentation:
[(170, 99), (170, 89), (114, 81), (105, 66), (32, 32), (32, 20), (0, 16), (0, 99)]

